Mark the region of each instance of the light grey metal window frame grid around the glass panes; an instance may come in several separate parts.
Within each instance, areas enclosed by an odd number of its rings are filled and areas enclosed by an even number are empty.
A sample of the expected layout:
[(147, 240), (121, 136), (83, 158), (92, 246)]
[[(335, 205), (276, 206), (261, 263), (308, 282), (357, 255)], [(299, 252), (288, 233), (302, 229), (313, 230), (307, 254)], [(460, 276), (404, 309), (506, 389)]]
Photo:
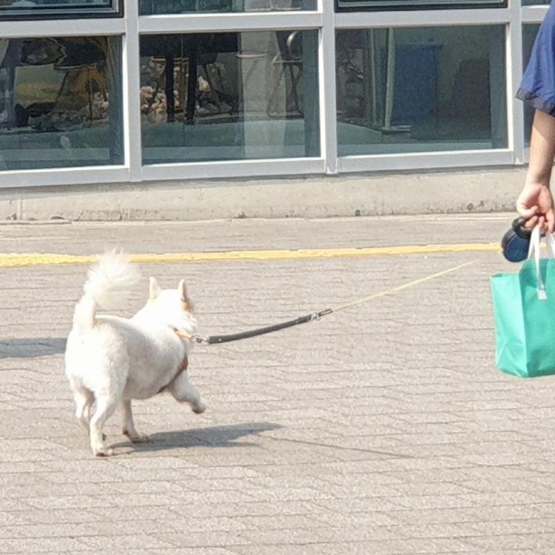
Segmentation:
[[(540, 23), (548, 6), (520, 6), (509, 1), (506, 8), (463, 8), (450, 10), (404, 10), (336, 12), (336, 0), (318, 0), (314, 11), (191, 13), (184, 15), (139, 15), (137, 0), (126, 0), (123, 17), (0, 21), (0, 36), (65, 37), (121, 35), (123, 56), (123, 147), (121, 166), (78, 167), (0, 171), (0, 187), (37, 185), (86, 185), (139, 181), (179, 180), (185, 184), (203, 178), (296, 176), (361, 171), (404, 171), (487, 167), (524, 164), (522, 103), (514, 93), (522, 76), (522, 24)], [(506, 27), (506, 105), (509, 144), (487, 151), (436, 151), (386, 155), (337, 155), (335, 33), (338, 30), (384, 27), (472, 26), (499, 24)], [(139, 36), (142, 34), (199, 32), (318, 31), (318, 99), (320, 157), (237, 160), (225, 162), (176, 162), (142, 165), (139, 98)]]

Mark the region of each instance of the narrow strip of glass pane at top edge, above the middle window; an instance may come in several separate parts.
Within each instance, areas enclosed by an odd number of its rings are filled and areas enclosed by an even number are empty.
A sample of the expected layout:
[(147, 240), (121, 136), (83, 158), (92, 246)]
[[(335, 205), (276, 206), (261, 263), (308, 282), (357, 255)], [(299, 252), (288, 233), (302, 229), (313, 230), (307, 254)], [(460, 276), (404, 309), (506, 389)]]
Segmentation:
[(141, 15), (316, 10), (316, 0), (139, 0)]

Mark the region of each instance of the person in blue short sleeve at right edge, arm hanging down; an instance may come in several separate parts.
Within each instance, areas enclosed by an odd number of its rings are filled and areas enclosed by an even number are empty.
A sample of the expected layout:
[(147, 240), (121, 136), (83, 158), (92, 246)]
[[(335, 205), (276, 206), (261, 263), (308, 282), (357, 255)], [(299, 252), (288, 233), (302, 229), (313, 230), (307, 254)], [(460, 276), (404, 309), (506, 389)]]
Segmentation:
[(540, 26), (517, 97), (536, 108), (530, 138), (529, 167), (516, 208), (526, 227), (555, 231), (553, 196), (549, 189), (555, 157), (555, 3)]

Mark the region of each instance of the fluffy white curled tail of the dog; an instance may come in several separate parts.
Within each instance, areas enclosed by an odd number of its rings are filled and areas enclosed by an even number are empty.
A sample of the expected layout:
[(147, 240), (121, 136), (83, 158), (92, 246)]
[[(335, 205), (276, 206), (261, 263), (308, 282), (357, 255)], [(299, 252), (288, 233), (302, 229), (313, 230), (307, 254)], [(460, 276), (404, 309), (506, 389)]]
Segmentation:
[(92, 329), (96, 309), (119, 307), (139, 279), (139, 271), (122, 253), (103, 254), (87, 274), (83, 297), (75, 307), (74, 327), (82, 332)]

